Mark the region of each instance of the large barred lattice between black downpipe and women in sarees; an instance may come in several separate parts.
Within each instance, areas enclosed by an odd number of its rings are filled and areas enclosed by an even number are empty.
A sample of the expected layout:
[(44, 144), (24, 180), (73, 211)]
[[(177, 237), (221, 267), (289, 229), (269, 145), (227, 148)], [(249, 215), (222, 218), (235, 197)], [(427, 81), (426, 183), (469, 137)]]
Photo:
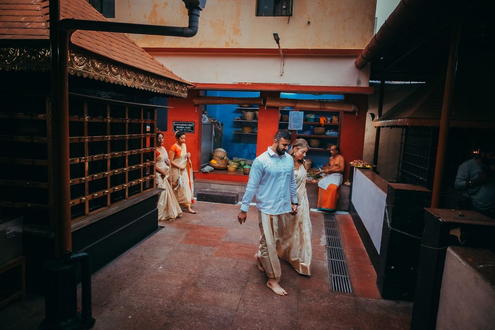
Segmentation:
[(154, 107), (72, 95), (69, 116), (73, 220), (154, 189)]

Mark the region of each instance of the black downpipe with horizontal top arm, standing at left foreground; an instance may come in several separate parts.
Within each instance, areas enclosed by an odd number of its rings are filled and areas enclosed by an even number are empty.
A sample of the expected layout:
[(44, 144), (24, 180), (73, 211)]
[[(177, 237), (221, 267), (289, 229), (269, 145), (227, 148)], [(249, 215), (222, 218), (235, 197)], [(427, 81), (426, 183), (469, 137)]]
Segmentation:
[[(95, 324), (91, 310), (91, 258), (87, 253), (72, 254), (69, 189), (69, 103), (68, 58), (70, 37), (76, 30), (121, 32), (191, 38), (198, 33), (199, 11), (206, 0), (182, 0), (188, 9), (187, 27), (159, 26), (78, 19), (60, 20), (60, 1), (49, 1), (51, 50), (51, 124), (54, 205), (50, 212), (55, 232), (57, 259), (45, 265), (48, 285), (46, 318), (41, 329), (86, 329)], [(81, 262), (82, 312), (77, 313), (76, 264)]]

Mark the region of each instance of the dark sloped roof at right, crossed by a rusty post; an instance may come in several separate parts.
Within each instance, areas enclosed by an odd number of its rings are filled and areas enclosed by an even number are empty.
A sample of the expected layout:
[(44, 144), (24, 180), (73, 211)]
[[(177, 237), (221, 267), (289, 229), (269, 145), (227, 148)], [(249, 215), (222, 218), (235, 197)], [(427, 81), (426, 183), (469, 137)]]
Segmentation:
[[(409, 94), (380, 118), (373, 121), (375, 127), (440, 126), (444, 101), (444, 80), (433, 80)], [(490, 104), (472, 97), (462, 87), (456, 88), (450, 112), (450, 127), (493, 128), (495, 111)]]

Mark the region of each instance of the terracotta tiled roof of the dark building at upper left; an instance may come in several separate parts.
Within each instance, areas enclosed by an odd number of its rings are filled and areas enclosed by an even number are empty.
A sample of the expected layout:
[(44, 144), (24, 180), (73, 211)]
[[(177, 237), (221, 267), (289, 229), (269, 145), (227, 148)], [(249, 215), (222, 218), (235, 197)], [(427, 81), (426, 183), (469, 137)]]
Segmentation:
[[(60, 18), (106, 20), (85, 0), (60, 0)], [(0, 0), (0, 39), (49, 39), (48, 0)], [(137, 69), (190, 84), (122, 33), (76, 31), (72, 45)]]

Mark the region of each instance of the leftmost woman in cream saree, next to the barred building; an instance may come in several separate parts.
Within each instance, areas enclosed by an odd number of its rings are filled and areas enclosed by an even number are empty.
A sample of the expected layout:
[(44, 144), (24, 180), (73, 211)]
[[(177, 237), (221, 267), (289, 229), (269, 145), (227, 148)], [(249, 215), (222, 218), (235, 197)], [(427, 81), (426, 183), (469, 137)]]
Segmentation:
[(182, 210), (174, 196), (170, 180), (170, 160), (167, 149), (163, 147), (163, 134), (156, 134), (156, 186), (163, 189), (158, 198), (158, 220), (174, 220), (182, 216)]

